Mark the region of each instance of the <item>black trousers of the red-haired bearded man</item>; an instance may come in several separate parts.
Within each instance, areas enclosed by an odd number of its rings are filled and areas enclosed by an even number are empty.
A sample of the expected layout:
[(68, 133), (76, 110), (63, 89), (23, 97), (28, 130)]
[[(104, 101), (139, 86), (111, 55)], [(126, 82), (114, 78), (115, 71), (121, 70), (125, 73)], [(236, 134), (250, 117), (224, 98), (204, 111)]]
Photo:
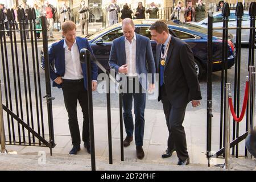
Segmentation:
[(87, 90), (84, 88), (84, 80), (64, 80), (62, 84), (65, 107), (68, 111), (68, 125), (71, 133), (73, 146), (81, 143), (79, 123), (77, 121), (77, 100), (82, 107), (84, 122), (82, 125), (82, 140), (88, 142), (89, 138), (89, 115)]

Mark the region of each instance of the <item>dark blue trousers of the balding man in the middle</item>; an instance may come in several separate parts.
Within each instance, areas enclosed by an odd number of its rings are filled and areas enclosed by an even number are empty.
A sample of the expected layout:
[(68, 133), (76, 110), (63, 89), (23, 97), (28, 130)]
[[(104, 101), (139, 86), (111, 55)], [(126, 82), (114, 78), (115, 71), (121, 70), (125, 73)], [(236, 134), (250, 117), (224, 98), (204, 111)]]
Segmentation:
[[(144, 110), (146, 106), (146, 93), (142, 92), (141, 84), (135, 84), (135, 79), (132, 78), (129, 80), (127, 78), (127, 84), (124, 89), (129, 90), (129, 85), (133, 85), (133, 93), (123, 93), (123, 121), (125, 123), (125, 131), (128, 137), (133, 136), (134, 131), (134, 123), (133, 123), (133, 114), (131, 113), (131, 109), (133, 107), (134, 100), (134, 114), (135, 114), (135, 144), (136, 146), (143, 146), (143, 136), (144, 136)], [(139, 93), (136, 93), (135, 86), (139, 86)]]

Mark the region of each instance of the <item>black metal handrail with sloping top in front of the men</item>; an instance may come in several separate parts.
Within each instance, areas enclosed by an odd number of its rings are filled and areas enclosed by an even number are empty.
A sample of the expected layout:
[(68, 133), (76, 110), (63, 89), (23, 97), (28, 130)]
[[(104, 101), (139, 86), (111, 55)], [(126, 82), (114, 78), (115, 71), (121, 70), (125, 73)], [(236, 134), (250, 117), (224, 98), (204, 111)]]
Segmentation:
[[(95, 149), (94, 149), (94, 127), (93, 127), (93, 102), (92, 102), (92, 85), (91, 80), (91, 61), (97, 64), (98, 68), (105, 73), (106, 81), (106, 100), (107, 100), (107, 113), (108, 113), (108, 146), (109, 146), (109, 164), (113, 164), (113, 154), (112, 154), (112, 127), (111, 127), (111, 106), (110, 106), (110, 81), (115, 81), (115, 78), (106, 70), (96, 57), (88, 51), (88, 49), (81, 49), (80, 51), (80, 61), (82, 64), (86, 64), (86, 76), (87, 76), (87, 90), (88, 90), (88, 113), (89, 113), (89, 126), (90, 126), (90, 146), (91, 146), (91, 160), (92, 160), (92, 170), (96, 170), (95, 164)], [(123, 157), (123, 114), (122, 114), (122, 93), (119, 93), (119, 119), (120, 119), (120, 145), (121, 145), (121, 161), (124, 160)]]

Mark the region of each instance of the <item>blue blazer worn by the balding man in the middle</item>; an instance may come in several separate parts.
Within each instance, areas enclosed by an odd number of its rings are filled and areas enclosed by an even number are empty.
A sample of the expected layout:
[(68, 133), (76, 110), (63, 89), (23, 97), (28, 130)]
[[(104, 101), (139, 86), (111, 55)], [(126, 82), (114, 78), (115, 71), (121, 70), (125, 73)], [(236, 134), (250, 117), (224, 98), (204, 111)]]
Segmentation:
[[(109, 57), (110, 68), (115, 69), (115, 72), (118, 72), (118, 68), (123, 64), (126, 64), (125, 36), (114, 40)], [(154, 84), (155, 61), (150, 39), (138, 34), (136, 34), (136, 71), (139, 75), (142, 73), (146, 75), (139, 79), (143, 89), (147, 89), (147, 73), (152, 73)]]

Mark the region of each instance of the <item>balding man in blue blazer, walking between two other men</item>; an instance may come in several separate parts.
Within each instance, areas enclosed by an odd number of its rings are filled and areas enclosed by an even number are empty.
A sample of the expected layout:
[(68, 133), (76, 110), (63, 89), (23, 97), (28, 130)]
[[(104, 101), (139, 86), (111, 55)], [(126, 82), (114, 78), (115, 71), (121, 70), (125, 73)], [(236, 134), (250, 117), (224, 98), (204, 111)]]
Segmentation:
[[(126, 138), (123, 146), (127, 147), (133, 140), (133, 115), (131, 109), (134, 100), (135, 114), (135, 144), (137, 158), (143, 159), (144, 110), (146, 105), (146, 90), (154, 89), (155, 62), (150, 40), (135, 34), (134, 23), (130, 18), (123, 19), (123, 36), (115, 39), (110, 51), (109, 65), (115, 72), (125, 74), (122, 81), (123, 120), (125, 122)], [(152, 73), (147, 86), (147, 73)], [(119, 75), (119, 74), (118, 74)], [(138, 83), (138, 84), (137, 84)], [(137, 90), (138, 92), (136, 92)]]

